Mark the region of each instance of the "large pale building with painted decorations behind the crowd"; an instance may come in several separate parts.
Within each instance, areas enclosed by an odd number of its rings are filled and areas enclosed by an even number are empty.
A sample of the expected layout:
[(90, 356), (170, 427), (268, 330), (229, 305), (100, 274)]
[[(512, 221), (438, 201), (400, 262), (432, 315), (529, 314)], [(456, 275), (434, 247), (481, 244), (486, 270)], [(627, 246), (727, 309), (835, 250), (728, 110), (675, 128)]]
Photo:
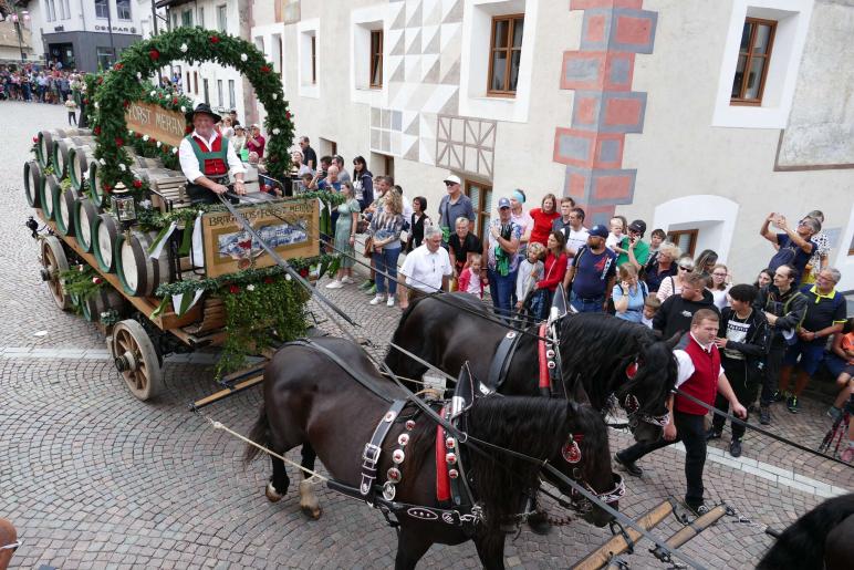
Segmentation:
[(821, 209), (854, 289), (848, 1), (259, 4), (252, 39), (285, 62), (298, 134), (364, 155), (433, 216), (448, 173), (478, 234), (513, 188), (528, 207), (572, 196), (589, 222), (642, 218), (752, 282), (769, 213)]

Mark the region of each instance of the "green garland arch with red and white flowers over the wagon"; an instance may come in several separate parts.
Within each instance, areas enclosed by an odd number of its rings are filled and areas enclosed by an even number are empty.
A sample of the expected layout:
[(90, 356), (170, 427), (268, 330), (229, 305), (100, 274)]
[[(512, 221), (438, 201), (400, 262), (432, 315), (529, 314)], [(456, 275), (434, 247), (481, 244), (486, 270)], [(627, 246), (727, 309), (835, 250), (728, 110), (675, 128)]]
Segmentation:
[[(102, 163), (104, 190), (111, 191), (122, 182), (128, 189), (139, 189), (131, 173), (131, 159), (124, 147), (132, 144), (127, 134), (125, 108), (131, 101), (157, 99), (145, 91), (145, 77), (159, 73), (170, 61), (190, 63), (211, 61), (237, 69), (249, 79), (256, 95), (267, 110), (267, 170), (273, 178), (284, 179), (291, 167), (289, 146), (293, 141), (293, 122), (284, 100), (279, 74), (273, 64), (251, 43), (222, 32), (202, 28), (179, 28), (149, 40), (137, 42), (122, 53), (111, 70), (94, 77), (94, 97), (88, 90), (92, 129), (97, 141), (95, 157)], [(169, 106), (169, 101), (163, 101)], [(188, 110), (189, 111), (189, 110)], [(178, 149), (173, 148), (173, 154)]]

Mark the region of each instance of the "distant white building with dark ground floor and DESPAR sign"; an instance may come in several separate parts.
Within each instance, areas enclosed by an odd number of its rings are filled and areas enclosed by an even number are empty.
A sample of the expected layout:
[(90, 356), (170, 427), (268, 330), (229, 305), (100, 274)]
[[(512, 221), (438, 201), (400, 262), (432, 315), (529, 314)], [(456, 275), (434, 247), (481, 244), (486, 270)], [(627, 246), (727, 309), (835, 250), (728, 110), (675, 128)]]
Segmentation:
[(30, 10), (33, 43), (66, 69), (105, 69), (142, 39), (136, 0), (31, 0)]

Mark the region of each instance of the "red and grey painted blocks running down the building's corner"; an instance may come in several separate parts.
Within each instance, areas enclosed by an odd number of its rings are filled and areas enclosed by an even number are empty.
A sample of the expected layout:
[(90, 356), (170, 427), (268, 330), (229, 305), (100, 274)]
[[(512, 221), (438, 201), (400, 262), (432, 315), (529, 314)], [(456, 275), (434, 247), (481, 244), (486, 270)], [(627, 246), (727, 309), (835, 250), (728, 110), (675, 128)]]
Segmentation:
[(593, 222), (632, 204), (635, 169), (622, 168), (626, 134), (643, 133), (646, 93), (632, 91), (637, 53), (653, 53), (658, 13), (643, 0), (571, 0), (583, 10), (580, 49), (563, 54), (561, 89), (574, 90), (570, 127), (554, 135), (554, 160), (566, 165), (564, 194)]

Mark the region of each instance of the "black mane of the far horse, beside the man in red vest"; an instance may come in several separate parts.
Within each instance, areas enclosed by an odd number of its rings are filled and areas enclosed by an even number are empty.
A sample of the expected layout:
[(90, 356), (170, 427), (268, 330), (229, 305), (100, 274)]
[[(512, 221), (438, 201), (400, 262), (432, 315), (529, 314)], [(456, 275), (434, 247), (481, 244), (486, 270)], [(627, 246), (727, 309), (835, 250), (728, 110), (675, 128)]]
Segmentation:
[[(626, 367), (635, 360), (634, 379)], [(602, 313), (580, 313), (561, 320), (562, 377), (567, 390), (576, 376), (593, 407), (605, 410), (608, 396), (638, 395), (640, 411), (659, 415), (676, 385), (676, 360), (666, 342), (643, 324)], [(660, 376), (665, 375), (664, 382)], [(571, 391), (570, 391), (571, 393)]]

